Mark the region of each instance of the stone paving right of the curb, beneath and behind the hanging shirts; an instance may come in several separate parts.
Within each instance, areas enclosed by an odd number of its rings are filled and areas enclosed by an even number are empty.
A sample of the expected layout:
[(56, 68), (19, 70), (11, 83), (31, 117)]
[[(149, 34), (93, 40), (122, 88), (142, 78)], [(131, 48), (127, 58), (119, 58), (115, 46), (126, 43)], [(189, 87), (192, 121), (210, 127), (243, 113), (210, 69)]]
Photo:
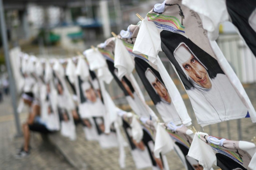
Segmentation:
[[(256, 84), (245, 85), (246, 92), (256, 108)], [(194, 113), (190, 101), (185, 99), (185, 104), (188, 109), (190, 116), (192, 117), (192, 125), (194, 125), (197, 130), (204, 130), (212, 136), (224, 137), (227, 139), (238, 140), (238, 120), (231, 120), (226, 122), (221, 122), (219, 124), (211, 125), (211, 130), (209, 126), (204, 129), (200, 128), (195, 120)], [(127, 107), (125, 107), (127, 108)], [(250, 118), (240, 119), (242, 139), (245, 141), (250, 141), (253, 136), (256, 136), (256, 124), (253, 124)], [(229, 124), (229, 125), (228, 125)], [(228, 131), (227, 127), (230, 130)], [(191, 127), (191, 126), (190, 126)], [(220, 129), (220, 132), (218, 131)], [(229, 134), (230, 133), (230, 134)], [(228, 134), (230, 138), (228, 138)], [(81, 126), (77, 126), (77, 140), (70, 141), (67, 138), (61, 137), (58, 134), (50, 136), (51, 141), (55, 141), (55, 144), (61, 150), (62, 154), (66, 155), (67, 159), (78, 169), (88, 169), (88, 170), (118, 170), (120, 169), (118, 164), (119, 151), (118, 148), (111, 149), (101, 149), (97, 142), (86, 141), (85, 135)], [(180, 159), (174, 151), (171, 151), (167, 155), (167, 160), (169, 168), (171, 170), (185, 170)], [(134, 170), (135, 165), (129, 148), (126, 147), (126, 168), (125, 170)]]

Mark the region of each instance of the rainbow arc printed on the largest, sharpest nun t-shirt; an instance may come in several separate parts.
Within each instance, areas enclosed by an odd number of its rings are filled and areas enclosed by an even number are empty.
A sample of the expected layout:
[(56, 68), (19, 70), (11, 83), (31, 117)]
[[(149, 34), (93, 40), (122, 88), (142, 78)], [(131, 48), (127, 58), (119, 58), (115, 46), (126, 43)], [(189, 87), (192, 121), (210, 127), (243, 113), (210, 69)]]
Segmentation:
[[(147, 20), (154, 22), (157, 28), (165, 29), (175, 33), (185, 33), (184, 26), (181, 24), (181, 21), (175, 16), (168, 16), (163, 14), (147, 14)], [(173, 26), (160, 24), (163, 23), (171, 23)]]

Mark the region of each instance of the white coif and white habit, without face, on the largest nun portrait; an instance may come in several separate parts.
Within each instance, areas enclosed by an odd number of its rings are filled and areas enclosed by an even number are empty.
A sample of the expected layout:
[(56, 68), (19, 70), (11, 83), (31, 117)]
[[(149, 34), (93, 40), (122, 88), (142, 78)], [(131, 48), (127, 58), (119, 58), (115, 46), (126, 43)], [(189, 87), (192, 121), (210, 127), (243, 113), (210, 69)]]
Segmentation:
[[(188, 61), (192, 55), (199, 62), (199, 65), (206, 70), (205, 77), (209, 78), (211, 87), (202, 87), (184, 69), (183, 63)], [(194, 86), (194, 88), (186, 90), (186, 92), (190, 97), (195, 113), (197, 113), (198, 123), (202, 127), (217, 122), (246, 117), (248, 109), (242, 103), (225, 74), (217, 74), (215, 78), (211, 79), (205, 65), (183, 42), (174, 50), (174, 57), (187, 79)]]

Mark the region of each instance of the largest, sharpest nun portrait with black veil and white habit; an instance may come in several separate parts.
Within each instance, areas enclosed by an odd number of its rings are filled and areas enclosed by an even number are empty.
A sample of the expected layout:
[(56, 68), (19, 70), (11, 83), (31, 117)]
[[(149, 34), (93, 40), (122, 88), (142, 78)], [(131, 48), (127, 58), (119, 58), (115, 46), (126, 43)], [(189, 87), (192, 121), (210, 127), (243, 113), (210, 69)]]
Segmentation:
[(215, 58), (182, 35), (162, 32), (162, 48), (170, 54), (201, 126), (249, 116)]

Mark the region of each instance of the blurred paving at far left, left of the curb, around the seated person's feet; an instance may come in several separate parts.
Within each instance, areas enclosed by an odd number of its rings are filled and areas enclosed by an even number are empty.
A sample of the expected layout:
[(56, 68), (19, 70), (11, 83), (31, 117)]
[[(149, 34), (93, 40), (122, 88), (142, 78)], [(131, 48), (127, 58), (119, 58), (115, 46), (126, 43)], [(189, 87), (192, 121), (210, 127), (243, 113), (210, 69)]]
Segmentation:
[[(15, 154), (23, 144), (23, 137), (14, 137), (16, 133), (10, 97), (0, 103), (0, 170), (74, 170), (54, 145), (43, 143), (37, 133), (31, 134), (31, 154), (15, 159)], [(26, 114), (20, 115), (21, 119)]]

